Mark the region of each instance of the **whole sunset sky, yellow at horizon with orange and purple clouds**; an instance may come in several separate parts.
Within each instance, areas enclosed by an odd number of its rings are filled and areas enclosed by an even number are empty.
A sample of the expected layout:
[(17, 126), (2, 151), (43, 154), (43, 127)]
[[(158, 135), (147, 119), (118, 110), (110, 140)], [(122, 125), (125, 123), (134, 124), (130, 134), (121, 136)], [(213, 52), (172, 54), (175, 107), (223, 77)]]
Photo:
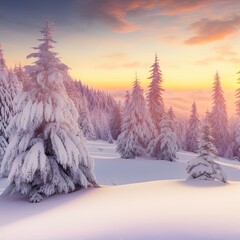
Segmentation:
[(0, 0), (0, 41), (8, 65), (31, 63), (26, 56), (48, 17), (74, 78), (119, 91), (131, 87), (137, 72), (146, 88), (157, 53), (168, 96), (204, 98), (218, 71), (233, 112), (239, 9), (239, 0)]

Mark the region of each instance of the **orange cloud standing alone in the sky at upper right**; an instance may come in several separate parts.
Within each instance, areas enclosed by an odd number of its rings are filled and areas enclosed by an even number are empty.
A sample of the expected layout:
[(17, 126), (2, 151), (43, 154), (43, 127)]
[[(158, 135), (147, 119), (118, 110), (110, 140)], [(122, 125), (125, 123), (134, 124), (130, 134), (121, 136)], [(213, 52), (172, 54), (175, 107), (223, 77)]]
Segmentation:
[(238, 31), (240, 26), (240, 16), (233, 15), (227, 19), (210, 20), (202, 18), (200, 21), (191, 25), (191, 29), (196, 35), (187, 39), (185, 44), (204, 44), (213, 41), (222, 40), (229, 35), (233, 35)]

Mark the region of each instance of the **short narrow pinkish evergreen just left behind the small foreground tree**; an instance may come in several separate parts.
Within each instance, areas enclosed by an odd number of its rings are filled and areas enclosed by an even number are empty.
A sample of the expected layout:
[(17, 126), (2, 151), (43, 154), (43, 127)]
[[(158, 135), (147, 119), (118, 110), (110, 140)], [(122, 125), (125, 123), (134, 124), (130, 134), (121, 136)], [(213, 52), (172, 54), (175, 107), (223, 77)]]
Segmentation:
[(194, 102), (192, 104), (191, 116), (188, 121), (188, 128), (186, 132), (186, 150), (189, 152), (197, 152), (199, 144), (199, 116), (197, 113), (197, 106)]

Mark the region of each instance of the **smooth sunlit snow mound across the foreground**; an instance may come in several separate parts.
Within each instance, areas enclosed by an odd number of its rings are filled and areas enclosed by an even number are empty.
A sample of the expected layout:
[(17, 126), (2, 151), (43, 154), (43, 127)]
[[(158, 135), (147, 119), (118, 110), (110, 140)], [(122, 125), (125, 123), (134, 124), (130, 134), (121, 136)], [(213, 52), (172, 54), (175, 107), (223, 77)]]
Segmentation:
[(0, 197), (0, 233), (4, 240), (237, 240), (239, 189), (236, 182), (168, 180), (83, 190), (40, 204)]

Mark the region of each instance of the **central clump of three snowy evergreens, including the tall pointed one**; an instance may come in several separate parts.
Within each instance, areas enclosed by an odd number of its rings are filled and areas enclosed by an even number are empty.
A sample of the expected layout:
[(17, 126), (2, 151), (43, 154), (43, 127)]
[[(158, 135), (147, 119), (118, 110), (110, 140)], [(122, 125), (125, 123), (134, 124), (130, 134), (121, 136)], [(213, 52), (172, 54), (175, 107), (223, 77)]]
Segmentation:
[(157, 55), (149, 79), (147, 103), (137, 77), (131, 95), (126, 95), (117, 151), (123, 158), (150, 155), (174, 161), (179, 148), (176, 117), (172, 107), (167, 112), (164, 108), (163, 79)]

